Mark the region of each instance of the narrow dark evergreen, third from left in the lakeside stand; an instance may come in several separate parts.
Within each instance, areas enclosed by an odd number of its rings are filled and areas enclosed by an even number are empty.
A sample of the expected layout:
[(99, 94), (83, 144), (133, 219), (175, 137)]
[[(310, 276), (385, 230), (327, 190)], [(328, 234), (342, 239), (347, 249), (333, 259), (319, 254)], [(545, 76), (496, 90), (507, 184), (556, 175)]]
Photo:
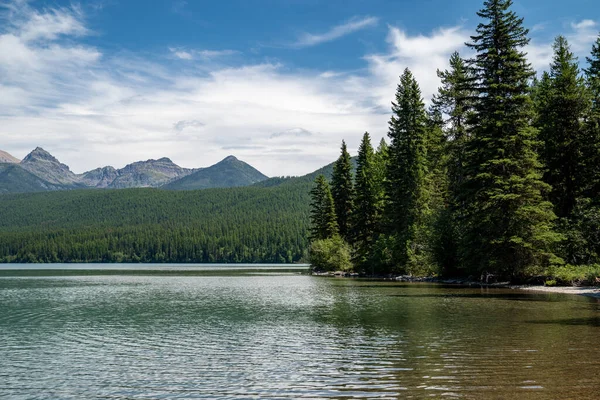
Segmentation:
[(356, 248), (356, 261), (363, 267), (375, 238), (377, 224), (377, 186), (375, 154), (371, 137), (365, 132), (358, 149), (356, 167), (356, 198), (352, 218), (352, 239)]

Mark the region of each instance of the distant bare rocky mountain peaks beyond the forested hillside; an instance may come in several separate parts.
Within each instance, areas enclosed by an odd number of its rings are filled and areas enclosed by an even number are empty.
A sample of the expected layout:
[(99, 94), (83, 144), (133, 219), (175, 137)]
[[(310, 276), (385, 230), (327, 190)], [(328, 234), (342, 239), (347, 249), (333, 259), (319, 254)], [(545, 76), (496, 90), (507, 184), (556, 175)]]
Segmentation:
[(248, 186), (266, 179), (267, 176), (234, 156), (207, 168), (183, 168), (163, 157), (137, 161), (121, 169), (106, 166), (75, 174), (41, 147), (21, 161), (0, 150), (0, 193), (142, 187), (195, 190)]

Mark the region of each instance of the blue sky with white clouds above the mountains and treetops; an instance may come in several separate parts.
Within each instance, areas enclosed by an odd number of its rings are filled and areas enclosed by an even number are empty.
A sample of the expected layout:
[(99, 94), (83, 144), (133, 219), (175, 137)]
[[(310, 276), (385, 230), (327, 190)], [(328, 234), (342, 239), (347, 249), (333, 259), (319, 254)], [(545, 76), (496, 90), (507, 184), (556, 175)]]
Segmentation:
[[(483, 0), (0, 0), (0, 149), (76, 173), (228, 155), (302, 175), (387, 135), (399, 76), (427, 103)], [(517, 0), (533, 67), (565, 35), (585, 67), (598, 0)]]

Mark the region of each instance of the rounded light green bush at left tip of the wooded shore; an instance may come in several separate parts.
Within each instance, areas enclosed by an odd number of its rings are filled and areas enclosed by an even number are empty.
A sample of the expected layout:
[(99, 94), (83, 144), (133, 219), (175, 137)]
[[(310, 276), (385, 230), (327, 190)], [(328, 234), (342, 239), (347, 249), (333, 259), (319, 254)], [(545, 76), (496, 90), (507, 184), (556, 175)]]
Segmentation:
[(339, 235), (315, 240), (308, 256), (313, 271), (351, 271), (351, 248)]

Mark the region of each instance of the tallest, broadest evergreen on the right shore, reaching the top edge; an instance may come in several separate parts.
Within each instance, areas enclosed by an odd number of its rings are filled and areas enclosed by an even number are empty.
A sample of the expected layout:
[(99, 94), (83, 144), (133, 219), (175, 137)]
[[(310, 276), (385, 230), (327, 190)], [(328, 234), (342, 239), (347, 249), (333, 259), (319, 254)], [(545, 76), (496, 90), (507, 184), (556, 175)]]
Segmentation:
[(472, 271), (518, 277), (548, 262), (559, 236), (552, 205), (543, 200), (549, 187), (530, 126), (533, 72), (521, 51), (528, 31), (511, 5), (485, 1), (477, 13), (484, 22), (468, 44), (477, 52), (470, 64), (478, 97), (462, 191), (468, 212), (462, 254)]

